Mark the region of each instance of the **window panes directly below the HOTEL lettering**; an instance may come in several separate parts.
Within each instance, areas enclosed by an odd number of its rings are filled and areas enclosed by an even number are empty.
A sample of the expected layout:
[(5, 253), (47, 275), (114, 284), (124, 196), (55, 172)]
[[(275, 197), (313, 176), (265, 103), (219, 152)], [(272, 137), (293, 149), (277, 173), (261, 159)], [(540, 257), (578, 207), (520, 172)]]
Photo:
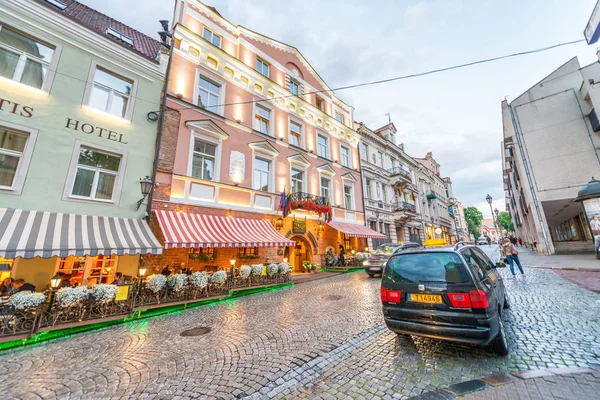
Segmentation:
[(121, 156), (81, 147), (71, 196), (91, 200), (112, 200)]

